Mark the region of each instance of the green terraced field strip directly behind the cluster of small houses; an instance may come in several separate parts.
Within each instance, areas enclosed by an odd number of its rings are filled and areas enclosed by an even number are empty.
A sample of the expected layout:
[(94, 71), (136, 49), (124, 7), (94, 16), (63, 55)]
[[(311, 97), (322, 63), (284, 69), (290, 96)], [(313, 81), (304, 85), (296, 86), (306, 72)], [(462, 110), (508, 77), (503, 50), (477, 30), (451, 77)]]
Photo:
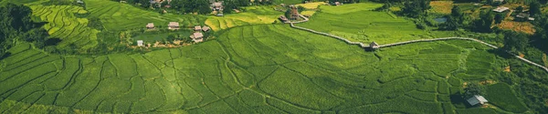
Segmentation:
[(201, 22), (205, 20), (203, 16), (161, 15), (108, 0), (86, 0), (86, 7), (90, 12), (90, 17), (99, 17), (102, 25), (110, 31), (144, 28), (148, 23), (167, 27), (169, 22), (179, 22), (182, 27), (191, 27), (201, 25)]

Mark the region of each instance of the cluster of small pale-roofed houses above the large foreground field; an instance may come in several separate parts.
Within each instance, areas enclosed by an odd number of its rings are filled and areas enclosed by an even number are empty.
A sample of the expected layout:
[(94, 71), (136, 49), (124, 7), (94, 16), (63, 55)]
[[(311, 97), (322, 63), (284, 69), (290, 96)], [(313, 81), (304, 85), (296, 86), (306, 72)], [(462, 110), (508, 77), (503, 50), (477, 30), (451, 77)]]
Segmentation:
[[(167, 29), (169, 30), (178, 30), (180, 28), (181, 26), (179, 26), (178, 22), (169, 22), (167, 25)], [(148, 23), (146, 25), (146, 29), (154, 30), (156, 27), (154, 26), (154, 23)], [(209, 26), (195, 26), (194, 30), (195, 32), (190, 36), (190, 38), (192, 38), (195, 43), (198, 43), (204, 41), (204, 34), (202, 32), (207, 32), (211, 30), (211, 28)], [(144, 47), (143, 43), (144, 42), (142, 40), (137, 40), (137, 47)]]

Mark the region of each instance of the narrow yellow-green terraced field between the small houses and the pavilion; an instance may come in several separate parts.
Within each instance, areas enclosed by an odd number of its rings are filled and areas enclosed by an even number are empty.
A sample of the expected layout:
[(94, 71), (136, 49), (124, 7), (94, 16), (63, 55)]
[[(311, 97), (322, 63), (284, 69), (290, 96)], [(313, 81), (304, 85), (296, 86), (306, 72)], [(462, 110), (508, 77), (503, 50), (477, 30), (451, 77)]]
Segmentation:
[(211, 26), (214, 31), (227, 29), (234, 26), (272, 24), (283, 15), (275, 11), (271, 6), (248, 6), (246, 12), (225, 16), (208, 16), (205, 25)]

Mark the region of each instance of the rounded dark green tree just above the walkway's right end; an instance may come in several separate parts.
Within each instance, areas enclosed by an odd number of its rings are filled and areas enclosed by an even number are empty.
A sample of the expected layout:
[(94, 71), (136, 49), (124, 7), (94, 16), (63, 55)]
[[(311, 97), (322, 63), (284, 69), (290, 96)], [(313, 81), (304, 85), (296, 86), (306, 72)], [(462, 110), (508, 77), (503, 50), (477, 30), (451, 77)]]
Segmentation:
[(504, 33), (504, 49), (511, 52), (522, 52), (529, 47), (529, 37), (524, 33), (506, 31)]

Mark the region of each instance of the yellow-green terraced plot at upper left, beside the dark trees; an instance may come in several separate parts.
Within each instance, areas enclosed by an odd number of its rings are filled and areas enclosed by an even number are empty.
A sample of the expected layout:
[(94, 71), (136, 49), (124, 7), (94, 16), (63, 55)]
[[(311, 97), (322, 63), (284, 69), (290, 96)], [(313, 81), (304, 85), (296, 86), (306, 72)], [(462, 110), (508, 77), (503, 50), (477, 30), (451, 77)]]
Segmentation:
[(96, 47), (99, 30), (88, 26), (87, 18), (76, 17), (75, 14), (85, 12), (83, 7), (74, 5), (30, 5), (33, 15), (46, 21), (44, 26), (52, 37), (58, 37), (62, 41), (58, 48), (76, 46), (86, 50)]

